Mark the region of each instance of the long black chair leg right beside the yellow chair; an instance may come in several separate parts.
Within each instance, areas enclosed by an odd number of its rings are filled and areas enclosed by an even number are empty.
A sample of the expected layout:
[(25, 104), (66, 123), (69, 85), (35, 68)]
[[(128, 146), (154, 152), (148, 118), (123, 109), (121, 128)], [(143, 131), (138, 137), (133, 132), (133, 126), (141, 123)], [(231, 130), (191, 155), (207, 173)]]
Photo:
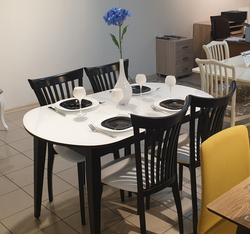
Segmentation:
[(197, 234), (198, 224), (198, 205), (197, 205), (197, 187), (196, 187), (196, 171), (190, 168), (191, 195), (193, 208), (193, 234)]

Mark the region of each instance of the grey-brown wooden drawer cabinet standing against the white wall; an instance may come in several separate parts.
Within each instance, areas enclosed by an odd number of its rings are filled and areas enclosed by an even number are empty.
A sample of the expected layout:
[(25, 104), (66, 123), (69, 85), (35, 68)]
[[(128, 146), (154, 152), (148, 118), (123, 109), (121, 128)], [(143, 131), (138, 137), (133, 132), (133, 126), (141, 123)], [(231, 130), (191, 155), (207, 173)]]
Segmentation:
[(176, 77), (192, 73), (193, 39), (165, 40), (156, 38), (156, 72)]

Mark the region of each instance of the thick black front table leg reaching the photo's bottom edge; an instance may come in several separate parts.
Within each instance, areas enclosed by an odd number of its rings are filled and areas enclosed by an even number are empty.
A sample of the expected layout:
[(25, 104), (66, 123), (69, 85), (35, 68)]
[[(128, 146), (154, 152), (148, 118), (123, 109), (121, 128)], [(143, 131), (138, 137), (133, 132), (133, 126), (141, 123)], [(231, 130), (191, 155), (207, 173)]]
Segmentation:
[(101, 163), (97, 152), (91, 151), (86, 156), (86, 178), (88, 187), (89, 220), (91, 234), (101, 232)]

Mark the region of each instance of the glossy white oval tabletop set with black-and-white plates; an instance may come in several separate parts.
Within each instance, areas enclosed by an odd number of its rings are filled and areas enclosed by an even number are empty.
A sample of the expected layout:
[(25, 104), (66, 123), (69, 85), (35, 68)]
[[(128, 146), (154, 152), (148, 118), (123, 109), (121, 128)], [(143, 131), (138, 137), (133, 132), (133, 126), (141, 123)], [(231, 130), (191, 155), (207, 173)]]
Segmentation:
[[(156, 100), (165, 100), (169, 98), (169, 88), (164, 83), (147, 83), (146, 85), (154, 89), (158, 87), (160, 89), (143, 95), (145, 97), (143, 100), (138, 96), (132, 96), (127, 106), (120, 106), (120, 114), (129, 115), (133, 113), (144, 116), (166, 115), (161, 112), (153, 111), (151, 105), (154, 104)], [(211, 97), (203, 91), (180, 85), (175, 85), (171, 91), (172, 98), (185, 99), (189, 94)], [(32, 135), (47, 141), (79, 146), (105, 145), (132, 136), (132, 130), (112, 133), (116, 135), (116, 138), (92, 132), (88, 124), (95, 124), (100, 119), (115, 116), (117, 109), (115, 102), (111, 98), (110, 91), (95, 93), (87, 97), (94, 98), (98, 101), (105, 101), (105, 103), (99, 104), (95, 108), (88, 109), (85, 111), (87, 114), (83, 117), (78, 117), (75, 115), (76, 112), (70, 111), (64, 111), (64, 113), (66, 113), (66, 117), (64, 117), (49, 109), (48, 106), (38, 107), (25, 114), (23, 118), (25, 129)], [(171, 113), (174, 112), (170, 111), (169, 114)]]

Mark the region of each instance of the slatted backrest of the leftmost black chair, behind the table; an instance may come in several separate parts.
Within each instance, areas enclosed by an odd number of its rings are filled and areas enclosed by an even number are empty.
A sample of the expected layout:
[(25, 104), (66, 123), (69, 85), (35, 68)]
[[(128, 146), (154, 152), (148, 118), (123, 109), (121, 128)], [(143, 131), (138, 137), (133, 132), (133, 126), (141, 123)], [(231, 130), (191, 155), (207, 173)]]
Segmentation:
[(72, 97), (75, 86), (83, 86), (83, 68), (40, 79), (28, 79), (41, 106)]

